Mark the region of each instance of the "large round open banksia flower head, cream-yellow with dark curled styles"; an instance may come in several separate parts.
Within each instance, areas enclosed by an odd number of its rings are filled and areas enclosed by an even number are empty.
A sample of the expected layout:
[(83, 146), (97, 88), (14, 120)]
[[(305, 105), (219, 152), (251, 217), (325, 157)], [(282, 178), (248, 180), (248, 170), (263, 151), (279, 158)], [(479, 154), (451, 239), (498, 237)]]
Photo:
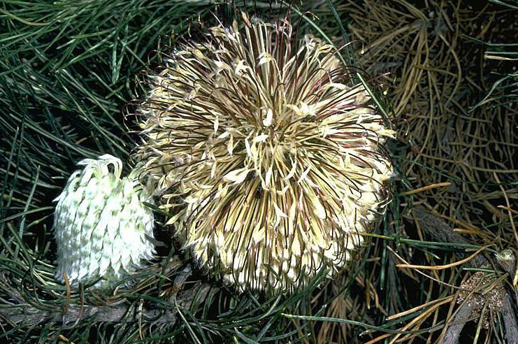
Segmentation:
[(136, 159), (201, 266), (240, 289), (292, 289), (363, 241), (389, 198), (393, 131), (333, 46), (242, 16), (151, 78)]

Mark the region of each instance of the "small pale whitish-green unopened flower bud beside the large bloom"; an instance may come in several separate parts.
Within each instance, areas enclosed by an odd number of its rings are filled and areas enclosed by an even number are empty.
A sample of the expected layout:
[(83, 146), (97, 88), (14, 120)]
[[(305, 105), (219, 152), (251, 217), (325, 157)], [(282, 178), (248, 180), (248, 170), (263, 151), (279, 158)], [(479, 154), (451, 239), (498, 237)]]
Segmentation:
[(94, 287), (113, 285), (154, 254), (153, 213), (142, 202), (149, 192), (131, 173), (121, 178), (122, 162), (111, 155), (84, 159), (57, 196), (54, 217), (56, 278), (70, 285), (101, 278)]

